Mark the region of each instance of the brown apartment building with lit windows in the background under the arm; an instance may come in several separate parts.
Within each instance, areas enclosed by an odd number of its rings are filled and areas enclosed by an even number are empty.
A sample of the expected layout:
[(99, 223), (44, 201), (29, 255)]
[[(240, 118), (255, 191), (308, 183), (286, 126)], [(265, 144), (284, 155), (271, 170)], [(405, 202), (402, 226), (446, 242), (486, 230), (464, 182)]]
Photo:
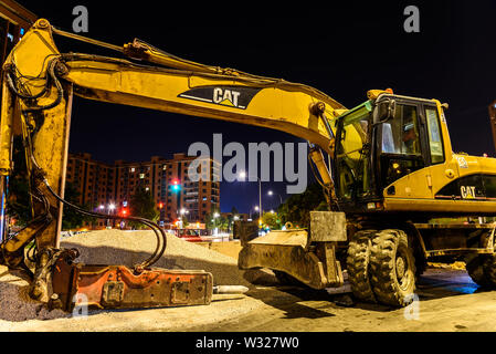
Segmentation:
[(143, 187), (154, 197), (163, 223), (179, 218), (203, 222), (205, 215), (220, 209), (220, 165), (210, 158), (202, 160), (196, 169), (197, 180), (189, 171), (194, 159), (175, 154), (172, 159), (152, 156), (149, 162), (109, 165), (89, 154), (70, 154), (66, 180), (80, 192), (78, 202), (95, 211), (129, 210), (131, 196)]

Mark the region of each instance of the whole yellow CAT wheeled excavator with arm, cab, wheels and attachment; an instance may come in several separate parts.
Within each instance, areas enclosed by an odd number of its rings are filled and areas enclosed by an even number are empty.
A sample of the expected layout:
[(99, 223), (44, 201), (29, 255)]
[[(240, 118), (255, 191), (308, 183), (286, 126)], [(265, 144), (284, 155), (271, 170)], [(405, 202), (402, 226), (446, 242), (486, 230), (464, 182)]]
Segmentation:
[[(125, 59), (60, 53), (53, 35), (115, 50)], [(31, 295), (71, 310), (77, 296), (99, 308), (208, 303), (211, 277), (157, 270), (154, 254), (134, 269), (76, 263), (60, 249), (73, 95), (282, 131), (308, 142), (309, 159), (329, 211), (310, 228), (244, 238), (240, 269), (268, 268), (314, 288), (341, 287), (355, 298), (391, 306), (414, 299), (428, 260), (464, 260), (475, 282), (496, 287), (494, 225), (446, 222), (496, 214), (496, 159), (454, 154), (446, 104), (371, 90), (347, 110), (303, 85), (183, 60), (135, 40), (124, 46), (64, 32), (40, 19), (3, 63), (0, 175), (12, 171), (20, 126), (33, 206), (32, 222), (2, 241), (0, 262), (35, 261)], [(326, 156), (327, 155), (327, 156)], [(327, 157), (327, 158), (326, 158)], [(443, 219), (442, 219), (443, 218)], [(162, 241), (160, 242), (160, 239)], [(35, 242), (35, 252), (25, 252)], [(80, 296), (81, 298), (81, 296)]]

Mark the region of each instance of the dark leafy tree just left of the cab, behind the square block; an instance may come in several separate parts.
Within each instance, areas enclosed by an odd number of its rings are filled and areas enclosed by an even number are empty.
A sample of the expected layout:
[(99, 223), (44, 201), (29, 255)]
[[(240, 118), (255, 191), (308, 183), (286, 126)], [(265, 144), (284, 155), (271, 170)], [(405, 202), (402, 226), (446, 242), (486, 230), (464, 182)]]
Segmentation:
[(309, 228), (310, 211), (329, 210), (324, 190), (313, 184), (300, 195), (293, 195), (278, 208), (282, 223), (291, 221), (294, 226)]

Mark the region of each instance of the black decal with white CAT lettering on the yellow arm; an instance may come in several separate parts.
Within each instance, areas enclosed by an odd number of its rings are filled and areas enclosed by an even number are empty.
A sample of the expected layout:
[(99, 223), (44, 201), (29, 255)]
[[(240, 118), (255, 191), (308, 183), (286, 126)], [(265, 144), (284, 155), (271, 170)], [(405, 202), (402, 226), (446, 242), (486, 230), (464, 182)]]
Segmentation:
[(246, 110), (261, 90), (242, 86), (202, 86), (183, 92), (178, 97)]

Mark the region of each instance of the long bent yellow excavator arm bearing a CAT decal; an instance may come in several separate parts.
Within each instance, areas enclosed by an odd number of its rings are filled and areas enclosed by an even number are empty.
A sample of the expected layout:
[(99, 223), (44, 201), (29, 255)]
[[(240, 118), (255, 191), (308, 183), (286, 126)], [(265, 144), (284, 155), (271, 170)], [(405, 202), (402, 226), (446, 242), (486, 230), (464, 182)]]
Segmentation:
[[(104, 45), (133, 61), (62, 54), (53, 40), (54, 33)], [(0, 175), (11, 173), (13, 131), (20, 127), (36, 221), (2, 243), (0, 261), (12, 267), (24, 267), (22, 250), (33, 239), (41, 253), (59, 248), (73, 94), (267, 127), (304, 138), (313, 147), (310, 156), (324, 186), (334, 190), (323, 152), (331, 155), (335, 133), (331, 121), (346, 108), (313, 87), (194, 63), (138, 40), (119, 48), (84, 39), (56, 30), (44, 19), (36, 21), (12, 50), (3, 73)], [(20, 116), (15, 107), (20, 108)], [(31, 294), (41, 299), (48, 290), (40, 277), (45, 275), (50, 257), (38, 259), (44, 261), (36, 264), (34, 283), (39, 285)], [(151, 259), (144, 267), (150, 266)]]

